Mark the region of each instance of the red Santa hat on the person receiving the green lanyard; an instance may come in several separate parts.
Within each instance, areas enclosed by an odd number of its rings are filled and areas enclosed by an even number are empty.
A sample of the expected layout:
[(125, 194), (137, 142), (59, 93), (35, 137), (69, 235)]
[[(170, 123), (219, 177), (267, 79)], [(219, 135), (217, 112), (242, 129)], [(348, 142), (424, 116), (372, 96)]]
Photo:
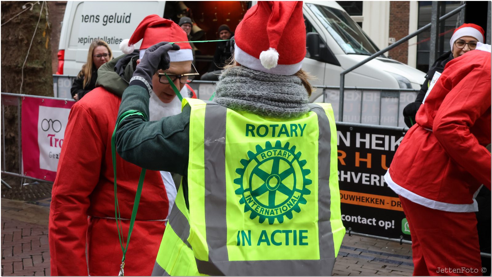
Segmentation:
[[(135, 50), (135, 43), (142, 40), (140, 45), (140, 58), (144, 56), (145, 50), (161, 41), (179, 42), (188, 41), (186, 32), (169, 19), (161, 18), (153, 14), (149, 15), (140, 22), (130, 39), (125, 39), (120, 43), (120, 50), (124, 54), (130, 54)], [(193, 53), (188, 42), (178, 44), (179, 51), (169, 51), (171, 61), (193, 60)]]

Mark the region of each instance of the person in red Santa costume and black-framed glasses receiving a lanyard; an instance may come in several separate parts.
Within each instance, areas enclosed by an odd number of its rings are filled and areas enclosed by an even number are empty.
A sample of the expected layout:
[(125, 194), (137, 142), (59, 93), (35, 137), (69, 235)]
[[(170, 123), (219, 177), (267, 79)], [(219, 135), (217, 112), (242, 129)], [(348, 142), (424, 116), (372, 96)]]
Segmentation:
[[(133, 44), (141, 39), (140, 51), (133, 51)], [(113, 182), (116, 177), (111, 136), (123, 90), (146, 49), (160, 41), (187, 41), (187, 37), (173, 21), (157, 15), (147, 16), (131, 38), (120, 46), (128, 55), (102, 65), (97, 87), (70, 111), (50, 207), (53, 276), (114, 276), (120, 270), (123, 253), (115, 220)], [(175, 74), (170, 77), (184, 97), (192, 97), (194, 93), (184, 84), (186, 77), (179, 78), (191, 71), (191, 47), (187, 42), (179, 45), (181, 50), (169, 52), (170, 70)], [(171, 85), (157, 73), (152, 79), (153, 91), (149, 100), (151, 120), (181, 111), (181, 102)], [(123, 241), (126, 242), (128, 219), (142, 168), (118, 155), (116, 165)], [(169, 172), (147, 170), (131, 244), (126, 252), (125, 275), (148, 276), (152, 273), (150, 261), (157, 255), (175, 197), (176, 187)]]

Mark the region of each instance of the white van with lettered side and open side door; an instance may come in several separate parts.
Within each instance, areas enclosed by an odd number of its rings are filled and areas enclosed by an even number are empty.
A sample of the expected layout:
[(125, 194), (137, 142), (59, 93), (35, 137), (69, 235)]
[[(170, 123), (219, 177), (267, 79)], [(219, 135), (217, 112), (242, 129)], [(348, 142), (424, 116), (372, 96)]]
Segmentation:
[[(212, 40), (216, 39), (216, 27), (209, 28), (210, 26), (223, 23), (237, 25), (237, 18), (240, 21), (247, 8), (255, 3), (256, 1), (68, 1), (60, 36), (57, 74), (78, 74), (87, 60), (87, 51), (94, 38), (104, 39), (110, 45), (113, 56), (122, 55), (119, 43), (130, 38), (133, 30), (147, 15), (158, 14), (178, 20), (179, 13), (188, 12), (188, 15), (189, 7), (201, 5), (202, 8), (193, 9), (193, 20), (209, 34), (205, 38)], [(379, 51), (336, 1), (305, 1), (303, 10), (308, 50), (303, 68), (317, 77), (313, 84), (338, 86), (340, 72)], [(199, 47), (205, 47), (205, 44), (202, 45)], [(139, 44), (135, 48), (138, 47)], [(214, 49), (215, 44), (211, 47)], [(196, 61), (210, 63), (212, 55), (213, 52), (197, 55)], [(206, 72), (206, 67), (197, 66), (197, 69), (202, 73)], [(420, 89), (424, 76), (424, 72), (381, 56), (345, 75), (345, 86)]]

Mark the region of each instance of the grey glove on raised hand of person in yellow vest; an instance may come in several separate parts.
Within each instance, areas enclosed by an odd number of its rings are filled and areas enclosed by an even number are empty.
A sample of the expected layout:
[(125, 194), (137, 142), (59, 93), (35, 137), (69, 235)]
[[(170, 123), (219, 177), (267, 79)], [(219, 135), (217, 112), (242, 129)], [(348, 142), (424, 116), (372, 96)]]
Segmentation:
[[(149, 93), (152, 90), (152, 76), (154, 76), (157, 70), (166, 70), (170, 66), (171, 58), (168, 52), (170, 50), (180, 50), (179, 45), (169, 44), (169, 42), (159, 42), (153, 46), (147, 48), (145, 55), (140, 59), (140, 63), (137, 65), (135, 72), (133, 72), (132, 80), (140, 80), (146, 82), (149, 89)], [(142, 80), (143, 79), (143, 80)]]

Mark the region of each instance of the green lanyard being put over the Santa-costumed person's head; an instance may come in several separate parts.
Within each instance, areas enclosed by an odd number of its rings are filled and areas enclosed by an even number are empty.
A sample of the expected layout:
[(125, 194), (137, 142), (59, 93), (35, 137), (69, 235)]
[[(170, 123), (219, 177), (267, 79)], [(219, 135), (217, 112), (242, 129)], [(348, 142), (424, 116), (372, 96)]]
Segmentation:
[[(200, 41), (180, 41), (180, 42), (215, 42), (215, 41), (225, 41), (225, 40), (200, 40)], [(171, 42), (173, 43), (179, 43), (179, 42)], [(181, 95), (180, 91), (176, 87), (176, 85), (172, 82), (171, 78), (164, 72), (164, 74), (167, 77), (167, 80), (169, 81), (169, 84), (171, 84), (171, 87), (173, 88), (174, 92), (176, 93), (176, 96), (178, 96), (178, 99), (180, 101), (183, 101), (183, 96)], [(212, 95), (211, 100), (214, 98), (215, 92)], [(140, 196), (142, 195), (142, 187), (144, 184), (144, 179), (145, 179), (145, 172), (146, 169), (142, 168), (142, 172), (140, 173), (140, 178), (138, 180), (138, 187), (137, 187), (137, 192), (135, 194), (135, 201), (133, 202), (133, 210), (131, 211), (131, 218), (130, 218), (130, 226), (128, 229), (128, 237), (126, 239), (126, 246), (123, 246), (123, 226), (121, 222), (121, 214), (120, 214), (120, 206), (118, 204), (118, 193), (117, 193), (117, 178), (116, 178), (116, 129), (118, 129), (118, 125), (125, 119), (126, 117), (130, 115), (140, 115), (143, 116), (145, 120), (147, 118), (145, 117), (144, 113), (140, 111), (135, 111), (135, 110), (130, 110), (130, 111), (125, 111), (123, 114), (118, 118), (116, 121), (116, 126), (115, 130), (113, 132), (113, 136), (111, 136), (111, 155), (113, 158), (113, 173), (114, 173), (114, 190), (115, 190), (115, 218), (116, 218), (116, 227), (118, 229), (118, 238), (120, 239), (120, 246), (123, 251), (123, 258), (122, 258), (122, 263), (120, 265), (120, 273), (118, 276), (124, 276), (124, 261), (126, 257), (126, 251), (128, 250), (128, 245), (130, 244), (130, 237), (131, 237), (131, 232), (133, 231), (133, 225), (135, 224), (135, 218), (137, 217), (137, 210), (138, 210), (138, 204), (140, 203)]]

